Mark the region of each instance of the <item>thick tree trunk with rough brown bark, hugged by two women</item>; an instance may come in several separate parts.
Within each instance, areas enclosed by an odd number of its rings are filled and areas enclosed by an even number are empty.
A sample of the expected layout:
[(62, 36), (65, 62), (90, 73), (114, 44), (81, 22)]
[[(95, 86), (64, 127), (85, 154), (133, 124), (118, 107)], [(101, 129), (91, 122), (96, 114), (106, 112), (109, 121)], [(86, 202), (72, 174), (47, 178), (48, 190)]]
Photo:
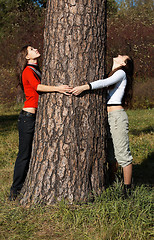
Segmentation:
[[(106, 0), (49, 0), (43, 84), (82, 85), (104, 76)], [(102, 99), (103, 98), (103, 99)], [(29, 172), (21, 204), (87, 201), (104, 188), (102, 90), (40, 96)]]

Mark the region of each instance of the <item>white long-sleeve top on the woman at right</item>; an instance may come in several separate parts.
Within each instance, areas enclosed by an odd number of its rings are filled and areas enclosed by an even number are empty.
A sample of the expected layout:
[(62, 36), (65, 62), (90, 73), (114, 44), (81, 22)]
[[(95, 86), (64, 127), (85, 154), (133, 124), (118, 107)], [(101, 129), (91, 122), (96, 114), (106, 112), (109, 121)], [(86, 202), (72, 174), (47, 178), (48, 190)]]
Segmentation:
[(97, 80), (90, 84), (92, 90), (114, 85), (112, 89), (108, 90), (107, 105), (122, 104), (122, 98), (127, 84), (126, 73), (122, 69), (117, 70), (108, 78)]

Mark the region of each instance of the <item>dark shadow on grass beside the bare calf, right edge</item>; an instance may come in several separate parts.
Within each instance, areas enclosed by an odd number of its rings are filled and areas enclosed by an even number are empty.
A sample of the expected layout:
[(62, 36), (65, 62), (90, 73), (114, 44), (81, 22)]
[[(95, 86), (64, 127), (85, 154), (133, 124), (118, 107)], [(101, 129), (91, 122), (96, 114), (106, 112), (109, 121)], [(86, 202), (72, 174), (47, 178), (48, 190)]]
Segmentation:
[(141, 163), (133, 165), (133, 180), (135, 185), (154, 185), (154, 152)]

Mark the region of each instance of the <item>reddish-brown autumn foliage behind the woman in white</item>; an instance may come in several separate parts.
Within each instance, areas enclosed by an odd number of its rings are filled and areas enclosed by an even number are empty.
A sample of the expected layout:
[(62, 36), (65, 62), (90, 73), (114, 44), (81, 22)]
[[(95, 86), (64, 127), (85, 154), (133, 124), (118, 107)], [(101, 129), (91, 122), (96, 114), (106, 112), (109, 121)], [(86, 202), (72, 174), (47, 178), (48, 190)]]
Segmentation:
[(108, 18), (107, 66), (118, 54), (132, 56), (135, 65), (133, 108), (154, 106), (152, 0), (119, 0), (118, 11)]

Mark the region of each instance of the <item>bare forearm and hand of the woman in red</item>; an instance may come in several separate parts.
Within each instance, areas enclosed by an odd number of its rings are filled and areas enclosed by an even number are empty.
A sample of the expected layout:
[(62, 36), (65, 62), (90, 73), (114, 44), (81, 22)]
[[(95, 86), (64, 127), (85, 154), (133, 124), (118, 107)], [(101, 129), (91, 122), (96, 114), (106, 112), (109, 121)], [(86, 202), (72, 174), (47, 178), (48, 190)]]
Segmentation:
[(59, 92), (65, 95), (70, 95), (70, 90), (72, 88), (68, 85), (60, 85), (60, 86), (48, 86), (43, 84), (38, 84), (37, 91), (38, 92)]

